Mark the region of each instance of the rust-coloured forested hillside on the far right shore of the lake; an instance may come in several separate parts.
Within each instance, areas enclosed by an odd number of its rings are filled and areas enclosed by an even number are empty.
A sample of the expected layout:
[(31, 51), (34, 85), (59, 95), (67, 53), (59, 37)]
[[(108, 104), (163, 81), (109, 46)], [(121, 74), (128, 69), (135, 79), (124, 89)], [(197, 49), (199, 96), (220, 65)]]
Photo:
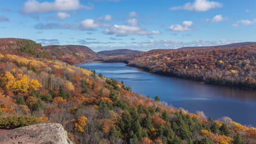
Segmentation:
[[(130, 66), (236, 87), (256, 88), (256, 45), (206, 49), (152, 50), (129, 59)], [(108, 58), (114, 61), (121, 57)], [(126, 59), (126, 57), (123, 57)]]

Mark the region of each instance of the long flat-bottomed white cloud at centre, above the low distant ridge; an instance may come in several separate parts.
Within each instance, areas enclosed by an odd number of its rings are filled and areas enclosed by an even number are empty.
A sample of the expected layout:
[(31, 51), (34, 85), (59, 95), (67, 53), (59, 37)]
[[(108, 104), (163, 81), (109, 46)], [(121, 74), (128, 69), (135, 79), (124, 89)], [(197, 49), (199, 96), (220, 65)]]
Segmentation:
[(108, 34), (119, 34), (119, 35), (151, 35), (151, 34), (160, 34), (159, 31), (149, 32), (138, 26), (126, 26), (126, 25), (114, 25), (110, 28), (105, 29), (105, 32)]

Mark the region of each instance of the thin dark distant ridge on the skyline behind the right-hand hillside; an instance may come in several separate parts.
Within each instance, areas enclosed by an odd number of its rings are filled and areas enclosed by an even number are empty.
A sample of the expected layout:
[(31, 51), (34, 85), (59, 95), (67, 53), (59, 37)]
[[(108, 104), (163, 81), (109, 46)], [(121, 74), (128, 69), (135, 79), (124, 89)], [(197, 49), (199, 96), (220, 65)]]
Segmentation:
[(243, 43), (233, 43), (228, 45), (217, 45), (217, 46), (195, 46), (195, 47), (181, 47), (179, 49), (203, 49), (203, 48), (210, 48), (210, 47), (236, 47), (236, 46), (247, 46), (247, 45), (253, 45), (256, 44), (256, 42), (243, 42)]

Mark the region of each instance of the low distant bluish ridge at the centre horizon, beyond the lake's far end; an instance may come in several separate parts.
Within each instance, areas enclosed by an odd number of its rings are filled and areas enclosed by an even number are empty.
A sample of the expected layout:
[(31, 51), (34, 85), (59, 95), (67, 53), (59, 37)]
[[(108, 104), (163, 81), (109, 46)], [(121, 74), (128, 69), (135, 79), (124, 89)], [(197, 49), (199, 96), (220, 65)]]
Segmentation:
[(97, 53), (101, 55), (106, 55), (106, 56), (119, 56), (119, 55), (137, 55), (142, 52), (144, 51), (117, 49), (117, 50), (100, 51)]

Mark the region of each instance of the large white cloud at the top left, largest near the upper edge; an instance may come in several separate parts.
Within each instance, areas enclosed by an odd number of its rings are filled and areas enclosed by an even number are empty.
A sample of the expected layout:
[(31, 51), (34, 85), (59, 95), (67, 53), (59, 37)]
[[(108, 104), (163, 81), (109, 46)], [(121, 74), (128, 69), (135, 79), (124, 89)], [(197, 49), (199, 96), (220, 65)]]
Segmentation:
[(55, 0), (54, 2), (42, 2), (27, 0), (21, 8), (22, 13), (46, 13), (52, 11), (66, 11), (76, 9), (91, 10), (92, 7), (80, 4), (79, 0)]

